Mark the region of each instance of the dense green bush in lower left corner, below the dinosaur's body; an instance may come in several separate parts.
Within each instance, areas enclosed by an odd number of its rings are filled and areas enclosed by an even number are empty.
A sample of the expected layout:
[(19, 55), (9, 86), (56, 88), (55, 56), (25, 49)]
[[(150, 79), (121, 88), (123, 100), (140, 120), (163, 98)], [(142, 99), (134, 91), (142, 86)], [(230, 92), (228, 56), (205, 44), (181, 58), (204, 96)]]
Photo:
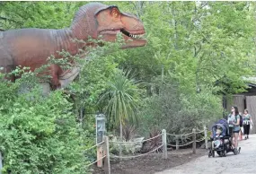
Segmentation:
[[(3, 77), (1, 78), (3, 79)], [(83, 143), (72, 103), (62, 91), (42, 97), (40, 88), (21, 93), (24, 81), (1, 81), (0, 149), (4, 171), (84, 173)]]

